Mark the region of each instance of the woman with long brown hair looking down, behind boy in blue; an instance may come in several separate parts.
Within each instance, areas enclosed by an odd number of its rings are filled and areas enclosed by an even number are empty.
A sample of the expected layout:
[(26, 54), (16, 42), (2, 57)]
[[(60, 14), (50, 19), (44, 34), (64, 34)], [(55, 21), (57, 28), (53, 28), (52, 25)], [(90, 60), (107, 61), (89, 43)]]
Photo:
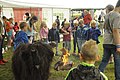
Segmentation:
[(34, 31), (35, 31), (35, 26), (34, 23), (38, 21), (38, 18), (36, 16), (32, 16), (28, 22), (28, 30), (27, 30), (27, 36), (29, 39), (29, 42), (32, 43), (34, 41)]

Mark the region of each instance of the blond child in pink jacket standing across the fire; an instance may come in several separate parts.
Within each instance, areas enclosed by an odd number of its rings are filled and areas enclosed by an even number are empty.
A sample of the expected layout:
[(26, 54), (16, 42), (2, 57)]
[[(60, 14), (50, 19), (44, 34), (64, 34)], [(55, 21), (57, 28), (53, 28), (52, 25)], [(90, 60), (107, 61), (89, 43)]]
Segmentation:
[(49, 32), (49, 29), (47, 27), (47, 24), (44, 21), (42, 21), (40, 26), (40, 39), (42, 42), (46, 44), (48, 43), (48, 32)]

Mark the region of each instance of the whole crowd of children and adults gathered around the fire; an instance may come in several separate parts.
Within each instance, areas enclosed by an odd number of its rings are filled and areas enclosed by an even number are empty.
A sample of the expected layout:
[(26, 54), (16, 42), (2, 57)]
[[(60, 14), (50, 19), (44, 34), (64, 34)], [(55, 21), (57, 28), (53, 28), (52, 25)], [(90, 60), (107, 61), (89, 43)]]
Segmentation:
[[(68, 73), (65, 80), (108, 80), (103, 74), (111, 55), (115, 66), (115, 80), (120, 80), (120, 0), (116, 7), (108, 5), (104, 22), (103, 58), (99, 68), (95, 68), (95, 61), (99, 60), (98, 44), (101, 31), (98, 21), (92, 19), (89, 11), (84, 10), (80, 18), (67, 21), (65, 18), (60, 25), (59, 16), (49, 29), (45, 21), (41, 21), (39, 41), (34, 39), (38, 17), (25, 13), (26, 20), (14, 23), (13, 18), (5, 16), (0, 20), (0, 65), (8, 61), (3, 58), (3, 50), (14, 46), (12, 69), (15, 80), (47, 80), (49, 66), (53, 56), (59, 56), (59, 43), (63, 39), (63, 48), (71, 55), (80, 56), (81, 62), (77, 68)], [(60, 37), (63, 35), (63, 37)], [(7, 44), (5, 44), (7, 39)], [(73, 39), (73, 47), (71, 41)], [(55, 54), (50, 43), (56, 47)], [(76, 47), (78, 52), (76, 52)], [(47, 66), (46, 66), (47, 64)], [(19, 67), (18, 67), (19, 66)], [(43, 71), (45, 70), (45, 71)], [(46, 77), (43, 77), (46, 76)], [(24, 79), (23, 79), (24, 78)]]

